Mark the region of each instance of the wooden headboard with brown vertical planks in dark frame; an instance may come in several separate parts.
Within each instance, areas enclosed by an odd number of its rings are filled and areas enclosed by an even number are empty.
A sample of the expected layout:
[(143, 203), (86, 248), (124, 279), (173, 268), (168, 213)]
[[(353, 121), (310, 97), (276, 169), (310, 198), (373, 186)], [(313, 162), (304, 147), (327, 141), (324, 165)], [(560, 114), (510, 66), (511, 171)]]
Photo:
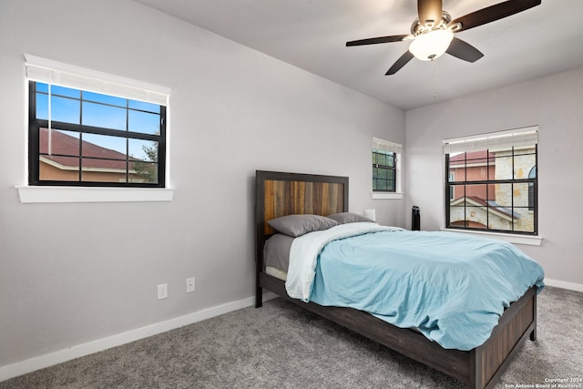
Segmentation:
[(292, 214), (328, 216), (348, 211), (348, 177), (255, 172), (255, 230), (258, 271), (263, 245), (275, 231), (267, 220)]

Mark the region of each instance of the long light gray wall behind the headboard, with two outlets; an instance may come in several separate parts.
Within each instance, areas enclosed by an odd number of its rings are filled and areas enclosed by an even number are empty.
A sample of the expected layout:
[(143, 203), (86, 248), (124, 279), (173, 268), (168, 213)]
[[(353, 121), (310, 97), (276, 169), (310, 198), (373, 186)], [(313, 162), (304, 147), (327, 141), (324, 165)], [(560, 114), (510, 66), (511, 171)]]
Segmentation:
[[(174, 200), (20, 203), (25, 53), (171, 87)], [(251, 297), (255, 169), (349, 176), (351, 210), (404, 225), (370, 195), (402, 110), (131, 1), (2, 0), (0, 85), (0, 367)]]

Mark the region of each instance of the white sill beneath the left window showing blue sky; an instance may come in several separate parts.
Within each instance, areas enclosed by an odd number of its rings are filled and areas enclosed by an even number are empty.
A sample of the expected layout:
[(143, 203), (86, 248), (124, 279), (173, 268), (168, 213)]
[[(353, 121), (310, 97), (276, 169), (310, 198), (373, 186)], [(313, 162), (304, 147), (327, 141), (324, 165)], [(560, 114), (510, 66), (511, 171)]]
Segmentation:
[(33, 187), (17, 185), (20, 202), (134, 202), (171, 201), (174, 189), (166, 188), (87, 188)]

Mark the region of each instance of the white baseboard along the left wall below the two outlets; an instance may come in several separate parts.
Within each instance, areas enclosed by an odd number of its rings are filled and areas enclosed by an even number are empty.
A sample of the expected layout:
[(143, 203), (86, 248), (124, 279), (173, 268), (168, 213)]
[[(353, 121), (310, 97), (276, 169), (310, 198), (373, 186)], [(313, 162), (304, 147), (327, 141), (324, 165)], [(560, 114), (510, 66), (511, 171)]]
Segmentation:
[[(275, 297), (277, 297), (275, 293), (263, 292), (263, 301), (268, 301)], [(212, 307), (203, 311), (179, 316), (166, 322), (150, 324), (145, 327), (128, 331), (127, 333), (118, 333), (113, 336), (108, 336), (107, 338), (97, 339), (96, 341), (77, 344), (76, 346), (57, 351), (55, 353), (47, 353), (45, 355), (36, 356), (26, 361), (6, 364), (4, 366), (0, 366), (0, 382), (16, 377), (18, 375), (44, 369), (57, 363), (63, 363), (91, 353), (97, 353), (122, 344), (135, 342), (139, 339), (147, 338), (148, 336), (156, 335), (158, 333), (165, 333), (193, 322), (200, 322), (206, 319), (210, 319), (211, 317), (237, 311), (253, 305), (255, 305), (255, 297), (249, 297), (237, 302), (228, 302), (226, 304)]]

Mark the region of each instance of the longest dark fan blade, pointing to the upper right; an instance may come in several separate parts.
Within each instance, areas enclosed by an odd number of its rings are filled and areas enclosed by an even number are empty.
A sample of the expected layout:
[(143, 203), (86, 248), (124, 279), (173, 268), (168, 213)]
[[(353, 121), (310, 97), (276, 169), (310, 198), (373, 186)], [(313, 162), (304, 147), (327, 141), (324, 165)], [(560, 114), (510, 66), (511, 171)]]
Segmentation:
[(491, 23), (503, 19), (506, 16), (526, 11), (528, 8), (540, 5), (540, 3), (541, 0), (507, 0), (503, 3), (486, 6), (486, 8), (482, 8), (471, 14), (458, 17), (452, 20), (449, 26), (459, 23), (461, 28), (457, 31), (469, 30), (470, 28), (486, 25), (486, 23)]

